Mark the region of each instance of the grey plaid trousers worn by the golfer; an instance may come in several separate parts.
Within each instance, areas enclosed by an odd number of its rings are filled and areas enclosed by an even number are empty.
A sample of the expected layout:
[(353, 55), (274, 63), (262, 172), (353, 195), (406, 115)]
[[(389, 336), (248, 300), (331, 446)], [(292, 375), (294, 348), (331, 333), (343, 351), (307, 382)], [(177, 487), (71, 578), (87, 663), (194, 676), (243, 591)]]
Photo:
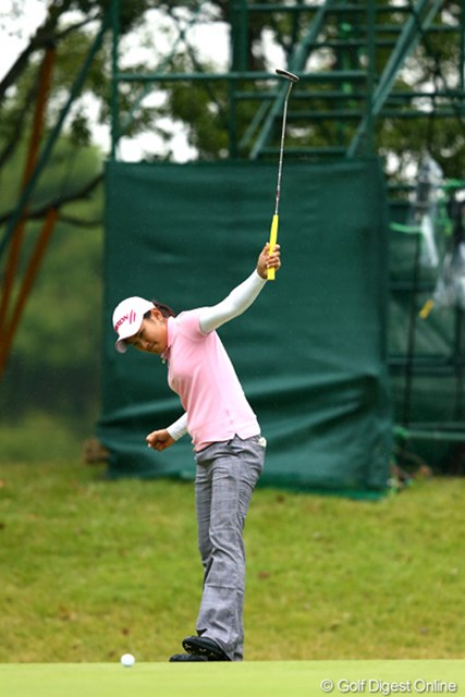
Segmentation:
[(244, 651), (243, 529), (262, 472), (265, 438), (235, 436), (196, 453), (196, 511), (204, 588), (197, 633), (215, 639), (232, 661)]

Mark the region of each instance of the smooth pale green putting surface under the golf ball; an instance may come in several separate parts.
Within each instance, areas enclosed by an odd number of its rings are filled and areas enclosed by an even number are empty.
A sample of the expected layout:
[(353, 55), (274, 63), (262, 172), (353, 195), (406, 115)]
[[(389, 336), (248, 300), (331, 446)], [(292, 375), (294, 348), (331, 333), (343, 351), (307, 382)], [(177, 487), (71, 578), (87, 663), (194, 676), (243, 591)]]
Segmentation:
[(2, 697), (465, 695), (465, 660), (3, 663)]

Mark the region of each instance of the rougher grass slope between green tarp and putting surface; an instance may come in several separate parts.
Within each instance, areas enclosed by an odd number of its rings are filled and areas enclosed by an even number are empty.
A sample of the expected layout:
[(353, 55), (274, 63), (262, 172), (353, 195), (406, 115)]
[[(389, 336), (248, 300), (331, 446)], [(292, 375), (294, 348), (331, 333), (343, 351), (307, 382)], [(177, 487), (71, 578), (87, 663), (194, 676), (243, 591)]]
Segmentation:
[[(166, 661), (194, 631), (193, 486), (0, 465), (0, 663)], [(379, 502), (255, 492), (246, 659), (457, 659), (465, 480)]]

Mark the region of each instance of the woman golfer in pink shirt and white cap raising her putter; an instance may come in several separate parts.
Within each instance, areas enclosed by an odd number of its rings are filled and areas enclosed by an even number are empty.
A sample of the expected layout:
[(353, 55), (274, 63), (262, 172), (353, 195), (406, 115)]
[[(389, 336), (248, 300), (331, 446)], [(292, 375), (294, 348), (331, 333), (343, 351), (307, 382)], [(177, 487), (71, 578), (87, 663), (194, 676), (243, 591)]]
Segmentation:
[(198, 546), (204, 589), (197, 636), (183, 640), (186, 653), (171, 661), (241, 661), (245, 553), (243, 528), (254, 487), (261, 474), (266, 441), (233, 365), (217, 334), (224, 322), (252, 305), (267, 279), (281, 266), (279, 245), (267, 244), (257, 267), (225, 299), (175, 316), (167, 305), (130, 297), (113, 313), (117, 350), (130, 345), (168, 363), (168, 382), (185, 413), (168, 428), (147, 436), (161, 451), (186, 432), (196, 460)]

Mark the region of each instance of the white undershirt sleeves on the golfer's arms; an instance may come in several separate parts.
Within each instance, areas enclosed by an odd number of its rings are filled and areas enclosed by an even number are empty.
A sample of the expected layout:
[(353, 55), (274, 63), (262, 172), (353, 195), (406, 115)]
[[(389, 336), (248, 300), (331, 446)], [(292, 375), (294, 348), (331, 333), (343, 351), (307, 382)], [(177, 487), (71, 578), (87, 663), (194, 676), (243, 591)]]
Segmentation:
[[(238, 317), (250, 307), (260, 291), (266, 284), (255, 269), (250, 276), (240, 285), (231, 291), (231, 293), (217, 305), (211, 307), (203, 307), (198, 311), (200, 329), (208, 334), (210, 331), (218, 329), (225, 322)], [(174, 440), (179, 440), (187, 433), (187, 414), (184, 413), (178, 420), (168, 427), (168, 432)]]

